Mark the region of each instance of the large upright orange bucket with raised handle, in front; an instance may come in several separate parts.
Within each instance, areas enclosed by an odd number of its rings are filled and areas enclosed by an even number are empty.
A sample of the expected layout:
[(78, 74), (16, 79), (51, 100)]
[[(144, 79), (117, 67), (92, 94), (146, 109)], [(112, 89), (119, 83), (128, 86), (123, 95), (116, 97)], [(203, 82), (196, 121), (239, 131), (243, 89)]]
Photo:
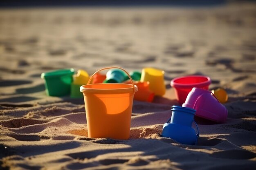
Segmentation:
[(90, 84), (99, 71), (119, 68), (107, 67), (96, 71), (87, 85), (80, 87), (85, 101), (88, 136), (93, 138), (128, 139), (132, 115), (133, 96), (138, 87), (132, 84), (101, 83)]

